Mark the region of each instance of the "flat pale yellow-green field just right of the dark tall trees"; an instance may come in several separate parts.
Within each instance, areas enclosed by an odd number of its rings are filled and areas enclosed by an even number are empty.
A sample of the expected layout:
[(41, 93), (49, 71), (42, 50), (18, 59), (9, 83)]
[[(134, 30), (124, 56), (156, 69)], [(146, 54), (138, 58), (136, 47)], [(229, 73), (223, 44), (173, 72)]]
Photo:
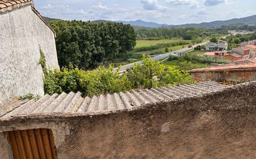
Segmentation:
[(137, 40), (135, 48), (157, 45), (160, 43), (173, 43), (180, 40)]

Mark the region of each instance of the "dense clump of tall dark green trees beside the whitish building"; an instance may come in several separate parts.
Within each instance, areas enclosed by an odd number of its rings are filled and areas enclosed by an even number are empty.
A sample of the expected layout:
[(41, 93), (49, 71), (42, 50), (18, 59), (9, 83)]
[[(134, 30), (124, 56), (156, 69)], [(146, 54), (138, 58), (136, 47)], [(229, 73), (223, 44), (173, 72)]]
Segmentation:
[(70, 64), (80, 69), (99, 66), (123, 56), (134, 48), (134, 28), (121, 23), (57, 20), (50, 22), (57, 33), (56, 45), (61, 67)]

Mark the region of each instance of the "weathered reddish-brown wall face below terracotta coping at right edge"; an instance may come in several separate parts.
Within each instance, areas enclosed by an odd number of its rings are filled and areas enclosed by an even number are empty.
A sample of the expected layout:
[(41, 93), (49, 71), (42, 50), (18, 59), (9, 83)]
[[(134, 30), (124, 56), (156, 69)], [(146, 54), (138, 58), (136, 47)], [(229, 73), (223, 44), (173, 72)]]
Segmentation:
[(191, 72), (192, 80), (202, 82), (207, 80), (250, 82), (256, 80), (256, 69), (217, 70)]

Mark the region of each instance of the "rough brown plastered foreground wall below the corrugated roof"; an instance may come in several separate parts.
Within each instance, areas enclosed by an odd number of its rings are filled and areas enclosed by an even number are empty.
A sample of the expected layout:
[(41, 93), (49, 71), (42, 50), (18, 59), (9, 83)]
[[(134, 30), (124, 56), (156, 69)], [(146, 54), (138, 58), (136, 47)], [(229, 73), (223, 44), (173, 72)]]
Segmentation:
[(0, 131), (52, 129), (59, 159), (255, 158), (255, 87), (256, 83), (240, 85), (137, 111), (70, 118), (24, 116), (0, 122)]

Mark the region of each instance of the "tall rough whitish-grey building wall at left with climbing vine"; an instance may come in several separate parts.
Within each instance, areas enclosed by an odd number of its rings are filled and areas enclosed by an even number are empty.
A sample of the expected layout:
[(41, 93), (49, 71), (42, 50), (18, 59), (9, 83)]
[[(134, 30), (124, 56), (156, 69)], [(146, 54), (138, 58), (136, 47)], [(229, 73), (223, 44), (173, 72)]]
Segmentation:
[(47, 66), (58, 68), (55, 38), (31, 6), (0, 14), (0, 101), (27, 93), (43, 95), (39, 45)]

